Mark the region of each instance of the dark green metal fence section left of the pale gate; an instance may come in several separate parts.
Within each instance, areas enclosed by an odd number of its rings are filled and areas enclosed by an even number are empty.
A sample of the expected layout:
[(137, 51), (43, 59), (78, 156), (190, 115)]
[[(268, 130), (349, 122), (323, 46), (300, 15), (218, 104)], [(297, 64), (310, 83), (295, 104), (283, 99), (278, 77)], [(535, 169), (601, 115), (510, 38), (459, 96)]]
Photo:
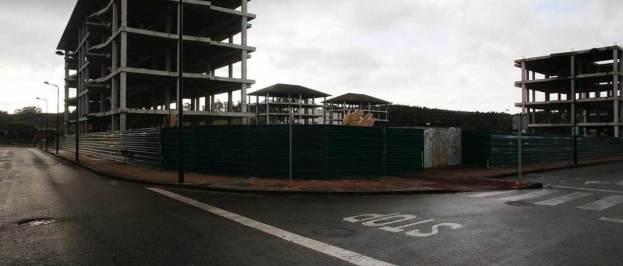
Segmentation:
[[(287, 178), (289, 126), (184, 127), (189, 172)], [(178, 128), (162, 129), (163, 167), (177, 170)], [(295, 125), (292, 170), (297, 179), (378, 177), (422, 172), (420, 129)]]

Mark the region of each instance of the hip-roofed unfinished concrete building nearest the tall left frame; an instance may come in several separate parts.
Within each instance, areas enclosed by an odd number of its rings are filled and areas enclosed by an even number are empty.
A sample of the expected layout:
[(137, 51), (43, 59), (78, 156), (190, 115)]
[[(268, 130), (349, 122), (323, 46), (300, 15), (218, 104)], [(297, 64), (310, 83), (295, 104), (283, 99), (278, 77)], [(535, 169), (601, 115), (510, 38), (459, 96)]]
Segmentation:
[(249, 93), (249, 111), (259, 125), (288, 124), (290, 113), (294, 124), (326, 124), (326, 106), (321, 102), (329, 96), (303, 86), (275, 84)]

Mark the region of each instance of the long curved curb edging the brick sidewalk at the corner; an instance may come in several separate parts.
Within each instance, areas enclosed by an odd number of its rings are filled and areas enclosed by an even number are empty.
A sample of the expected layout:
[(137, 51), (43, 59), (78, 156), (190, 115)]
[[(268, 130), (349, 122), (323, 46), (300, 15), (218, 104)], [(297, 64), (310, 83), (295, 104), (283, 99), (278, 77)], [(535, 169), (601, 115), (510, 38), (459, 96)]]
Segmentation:
[(201, 191), (210, 191), (210, 192), (220, 192), (220, 193), (235, 193), (235, 194), (246, 194), (246, 195), (265, 195), (265, 196), (381, 196), (381, 195), (435, 195), (435, 194), (448, 194), (448, 193), (458, 193), (461, 191), (454, 190), (422, 190), (422, 191), (414, 191), (414, 190), (404, 190), (404, 191), (287, 191), (287, 190), (247, 190), (244, 188), (223, 188), (223, 187), (214, 187), (214, 186), (202, 186), (202, 185), (192, 185), (192, 184), (178, 184), (178, 183), (169, 183), (169, 182), (159, 182), (159, 181), (148, 181), (148, 180), (140, 180), (130, 177), (123, 177), (121, 175), (117, 175), (115, 173), (110, 173), (107, 171), (97, 170), (92, 167), (88, 167), (80, 162), (75, 162), (74, 160), (70, 160), (68, 158), (59, 156), (54, 154), (54, 152), (50, 152), (47, 150), (39, 149), (46, 154), (52, 155), (54, 157), (60, 158), (65, 162), (72, 163), (73, 165), (77, 165), (89, 172), (95, 173), (97, 175), (101, 175), (103, 177), (107, 177), (113, 180), (125, 181), (128, 183), (136, 183), (141, 185), (150, 185), (150, 186), (160, 186), (166, 188), (178, 188), (185, 190), (201, 190)]

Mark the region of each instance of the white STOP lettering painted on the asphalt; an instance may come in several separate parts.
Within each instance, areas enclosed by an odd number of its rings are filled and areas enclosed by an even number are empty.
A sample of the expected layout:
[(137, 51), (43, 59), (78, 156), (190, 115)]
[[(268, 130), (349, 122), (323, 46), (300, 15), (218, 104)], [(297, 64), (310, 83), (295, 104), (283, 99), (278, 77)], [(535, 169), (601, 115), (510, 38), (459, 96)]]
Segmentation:
[[(435, 219), (427, 219), (423, 221), (410, 222), (407, 224), (397, 225), (399, 222), (412, 221), (416, 219), (415, 215), (412, 214), (400, 214), (400, 213), (390, 213), (390, 214), (376, 214), (376, 213), (366, 213), (359, 214), (355, 216), (350, 216), (343, 218), (343, 221), (346, 222), (361, 222), (364, 226), (378, 227), (378, 229), (388, 232), (402, 232), (405, 231), (406, 227), (416, 226), (418, 224), (425, 224), (427, 222), (435, 221)], [(389, 225), (392, 226), (389, 226)], [(382, 226), (382, 227), (381, 227)], [(429, 224), (430, 226), (430, 224)], [(439, 224), (433, 224), (430, 226), (430, 230), (426, 231), (424, 229), (413, 229), (410, 231), (404, 232), (407, 236), (415, 236), (415, 237), (428, 237), (433, 236), (439, 233), (440, 227), (447, 227), (449, 229), (455, 230), (462, 227), (462, 225), (454, 223), (454, 222), (442, 222)]]

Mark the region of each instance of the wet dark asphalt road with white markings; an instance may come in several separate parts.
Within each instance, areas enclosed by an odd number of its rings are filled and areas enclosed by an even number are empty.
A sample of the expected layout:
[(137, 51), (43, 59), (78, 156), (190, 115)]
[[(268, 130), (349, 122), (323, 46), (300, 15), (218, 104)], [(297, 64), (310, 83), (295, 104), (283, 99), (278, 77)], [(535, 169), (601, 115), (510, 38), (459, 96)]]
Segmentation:
[[(275, 197), (150, 190), (0, 147), (0, 264), (621, 265), (622, 173), (543, 172), (524, 177), (543, 189), (488, 194)], [(58, 221), (18, 225), (44, 218)]]

